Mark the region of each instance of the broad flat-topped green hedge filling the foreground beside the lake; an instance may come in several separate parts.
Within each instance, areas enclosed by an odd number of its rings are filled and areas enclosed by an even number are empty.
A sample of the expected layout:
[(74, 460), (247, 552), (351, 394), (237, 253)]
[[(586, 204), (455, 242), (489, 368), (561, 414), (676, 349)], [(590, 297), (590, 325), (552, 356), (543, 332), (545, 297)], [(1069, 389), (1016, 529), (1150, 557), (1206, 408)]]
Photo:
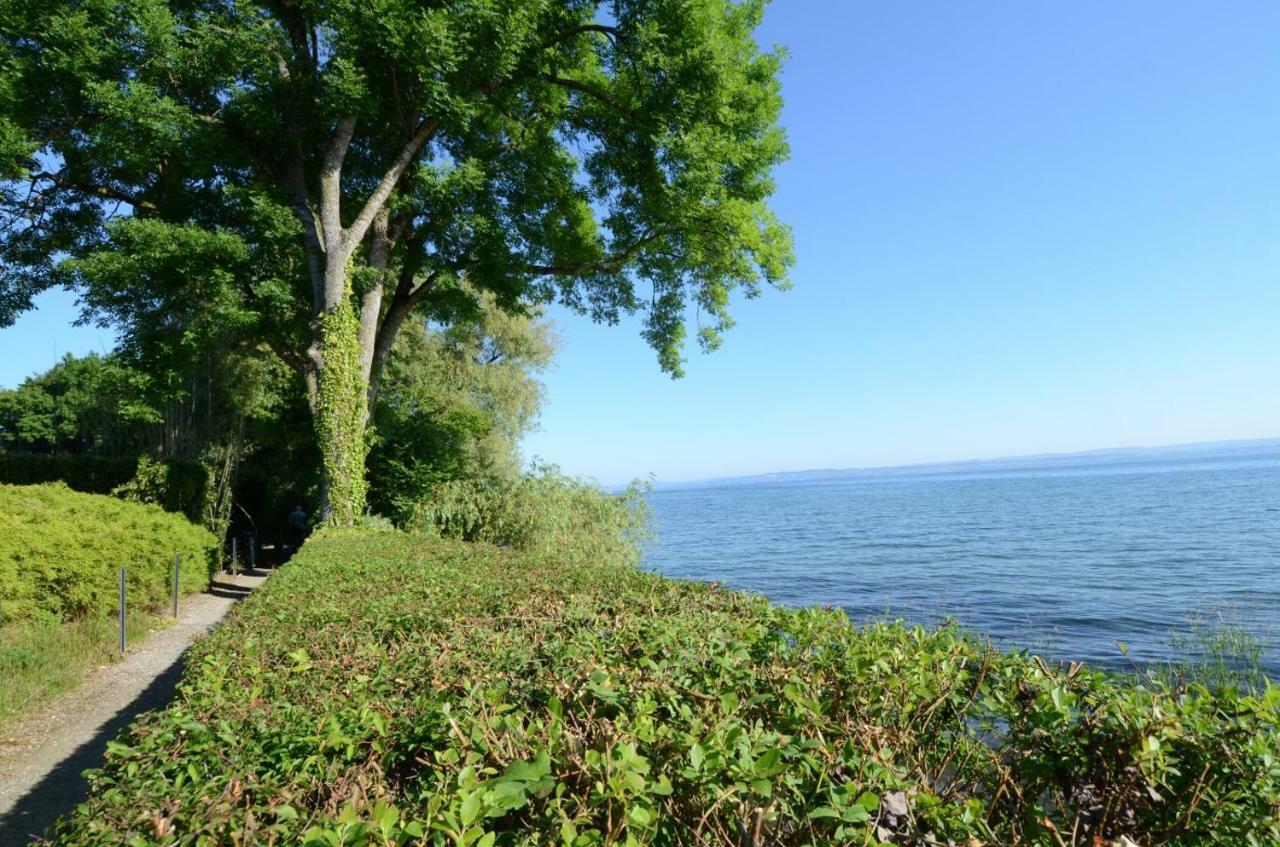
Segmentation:
[(1137, 681), (714, 585), (314, 536), (61, 844), (1276, 844), (1280, 688)]

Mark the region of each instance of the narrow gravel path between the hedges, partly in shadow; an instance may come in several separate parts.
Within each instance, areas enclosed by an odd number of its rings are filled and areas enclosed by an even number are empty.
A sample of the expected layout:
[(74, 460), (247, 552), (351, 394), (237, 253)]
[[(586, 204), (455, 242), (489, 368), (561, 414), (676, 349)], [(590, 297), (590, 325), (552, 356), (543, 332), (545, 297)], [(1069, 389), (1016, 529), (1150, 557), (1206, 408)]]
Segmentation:
[(236, 603), (261, 572), (221, 574), (207, 594), (188, 596), (178, 623), (152, 632), (123, 661), (91, 670), (76, 690), (9, 725), (0, 736), (0, 847), (19, 847), (84, 798), (81, 772), (102, 761), (106, 742), (137, 715), (169, 702), (182, 656)]

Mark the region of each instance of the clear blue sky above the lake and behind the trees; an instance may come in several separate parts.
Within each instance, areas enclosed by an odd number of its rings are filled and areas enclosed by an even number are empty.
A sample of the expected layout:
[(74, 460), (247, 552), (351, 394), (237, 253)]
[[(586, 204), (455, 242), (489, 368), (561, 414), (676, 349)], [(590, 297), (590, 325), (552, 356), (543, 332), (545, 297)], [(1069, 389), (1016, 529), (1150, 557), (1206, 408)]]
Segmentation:
[[(1280, 4), (778, 0), (788, 292), (671, 380), (564, 310), (527, 457), (607, 485), (1280, 435)], [(0, 385), (110, 347), (46, 294)]]

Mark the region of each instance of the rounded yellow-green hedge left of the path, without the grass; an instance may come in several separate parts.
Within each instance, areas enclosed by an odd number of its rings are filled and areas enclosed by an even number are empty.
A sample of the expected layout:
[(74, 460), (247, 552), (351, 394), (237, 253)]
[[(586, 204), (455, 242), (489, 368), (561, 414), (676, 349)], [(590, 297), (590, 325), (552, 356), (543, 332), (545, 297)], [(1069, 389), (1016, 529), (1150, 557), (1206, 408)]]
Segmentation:
[(182, 590), (209, 585), (216, 542), (155, 505), (81, 494), (61, 484), (0, 485), (0, 603), (6, 622), (73, 621), (113, 612), (116, 571), (134, 608), (164, 605), (173, 554)]

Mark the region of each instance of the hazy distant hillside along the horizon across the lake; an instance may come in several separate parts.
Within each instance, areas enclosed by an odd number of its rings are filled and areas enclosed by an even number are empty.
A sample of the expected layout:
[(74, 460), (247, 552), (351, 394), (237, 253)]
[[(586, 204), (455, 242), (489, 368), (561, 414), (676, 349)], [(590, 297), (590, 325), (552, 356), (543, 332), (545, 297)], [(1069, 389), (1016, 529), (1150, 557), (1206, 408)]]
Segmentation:
[(1247, 457), (1280, 458), (1280, 438), (1247, 439), (1234, 441), (1198, 441), (1169, 447), (1116, 447), (1079, 453), (1039, 453), (1036, 455), (1006, 455), (963, 462), (929, 462), (867, 468), (815, 468), (809, 471), (778, 471), (754, 476), (728, 476), (690, 482), (657, 481), (655, 489), (700, 489), (765, 482), (817, 482), (868, 476), (941, 476), (947, 473), (991, 473), (998, 471), (1034, 471), (1059, 467), (1088, 467), (1103, 464), (1142, 464), (1170, 461), (1212, 461)]

